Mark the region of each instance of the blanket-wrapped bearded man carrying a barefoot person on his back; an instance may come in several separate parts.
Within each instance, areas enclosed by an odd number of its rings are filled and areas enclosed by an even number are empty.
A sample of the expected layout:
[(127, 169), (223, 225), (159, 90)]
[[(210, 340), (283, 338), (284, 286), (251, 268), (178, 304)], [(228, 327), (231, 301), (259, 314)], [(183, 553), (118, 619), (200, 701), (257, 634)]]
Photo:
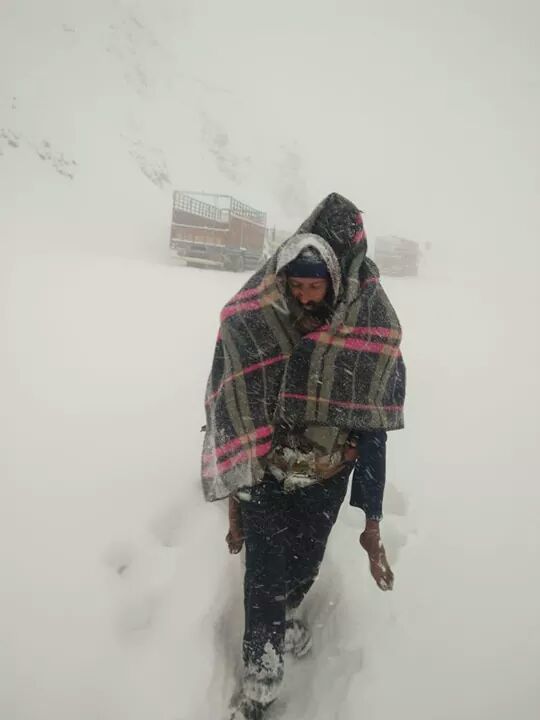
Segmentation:
[(259, 720), (283, 657), (311, 646), (298, 608), (352, 473), (360, 542), (382, 590), (386, 432), (403, 427), (401, 328), (366, 258), (360, 211), (333, 193), (221, 313), (207, 388), (202, 480), (229, 498), (229, 550), (245, 543), (244, 674), (230, 720)]

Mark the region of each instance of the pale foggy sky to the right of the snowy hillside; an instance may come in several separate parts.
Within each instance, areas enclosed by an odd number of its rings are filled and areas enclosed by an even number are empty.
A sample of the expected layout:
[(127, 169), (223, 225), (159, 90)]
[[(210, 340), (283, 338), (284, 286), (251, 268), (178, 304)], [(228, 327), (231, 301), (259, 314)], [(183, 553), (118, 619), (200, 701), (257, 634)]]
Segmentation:
[[(493, 241), (539, 197), (535, 2), (203, 2), (181, 56), (248, 98), (303, 161), (306, 198), (349, 194), (376, 232)], [(306, 208), (307, 209), (307, 208)], [(495, 217), (496, 216), (496, 217)], [(525, 222), (528, 226), (528, 223)]]

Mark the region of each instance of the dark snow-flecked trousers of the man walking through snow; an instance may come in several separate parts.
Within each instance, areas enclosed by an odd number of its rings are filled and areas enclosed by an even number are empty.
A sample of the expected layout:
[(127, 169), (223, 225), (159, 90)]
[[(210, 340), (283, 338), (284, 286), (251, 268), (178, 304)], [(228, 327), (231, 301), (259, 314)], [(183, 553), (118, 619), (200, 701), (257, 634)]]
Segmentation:
[(351, 467), (324, 482), (285, 492), (267, 475), (242, 500), (245, 685), (254, 699), (274, 699), (283, 676), (285, 619), (313, 585)]

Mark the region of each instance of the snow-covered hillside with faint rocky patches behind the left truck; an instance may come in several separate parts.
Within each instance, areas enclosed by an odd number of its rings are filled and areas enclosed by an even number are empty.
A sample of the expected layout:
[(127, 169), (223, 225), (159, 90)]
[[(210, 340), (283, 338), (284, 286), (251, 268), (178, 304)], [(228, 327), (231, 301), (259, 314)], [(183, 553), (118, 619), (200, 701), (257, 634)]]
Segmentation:
[(290, 135), (241, 87), (197, 72), (204, 15), (167, 0), (23, 0), (0, 12), (8, 242), (15, 229), (47, 251), (166, 258), (173, 188), (235, 194), (278, 224), (308, 209)]

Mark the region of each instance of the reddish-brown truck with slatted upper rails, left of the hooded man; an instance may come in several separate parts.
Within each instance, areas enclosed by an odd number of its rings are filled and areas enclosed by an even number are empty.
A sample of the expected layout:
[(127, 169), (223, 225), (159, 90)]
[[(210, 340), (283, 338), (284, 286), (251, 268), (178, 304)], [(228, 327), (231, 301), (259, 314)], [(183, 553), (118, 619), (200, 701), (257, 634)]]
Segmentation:
[(170, 249), (187, 265), (255, 269), (266, 235), (266, 213), (230, 195), (175, 191)]

